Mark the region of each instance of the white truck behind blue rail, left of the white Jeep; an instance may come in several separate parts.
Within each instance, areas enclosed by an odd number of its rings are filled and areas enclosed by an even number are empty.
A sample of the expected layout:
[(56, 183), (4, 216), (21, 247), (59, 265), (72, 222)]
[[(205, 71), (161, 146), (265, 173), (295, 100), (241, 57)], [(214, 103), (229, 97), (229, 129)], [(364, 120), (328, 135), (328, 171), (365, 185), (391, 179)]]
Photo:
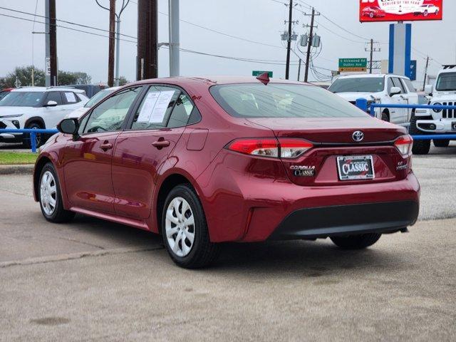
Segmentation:
[[(329, 87), (330, 91), (356, 103), (358, 98), (365, 98), (370, 103), (418, 104), (418, 93), (410, 78), (392, 74), (361, 74), (341, 76)], [(377, 108), (375, 117), (390, 123), (406, 125), (410, 123), (413, 109)]]

